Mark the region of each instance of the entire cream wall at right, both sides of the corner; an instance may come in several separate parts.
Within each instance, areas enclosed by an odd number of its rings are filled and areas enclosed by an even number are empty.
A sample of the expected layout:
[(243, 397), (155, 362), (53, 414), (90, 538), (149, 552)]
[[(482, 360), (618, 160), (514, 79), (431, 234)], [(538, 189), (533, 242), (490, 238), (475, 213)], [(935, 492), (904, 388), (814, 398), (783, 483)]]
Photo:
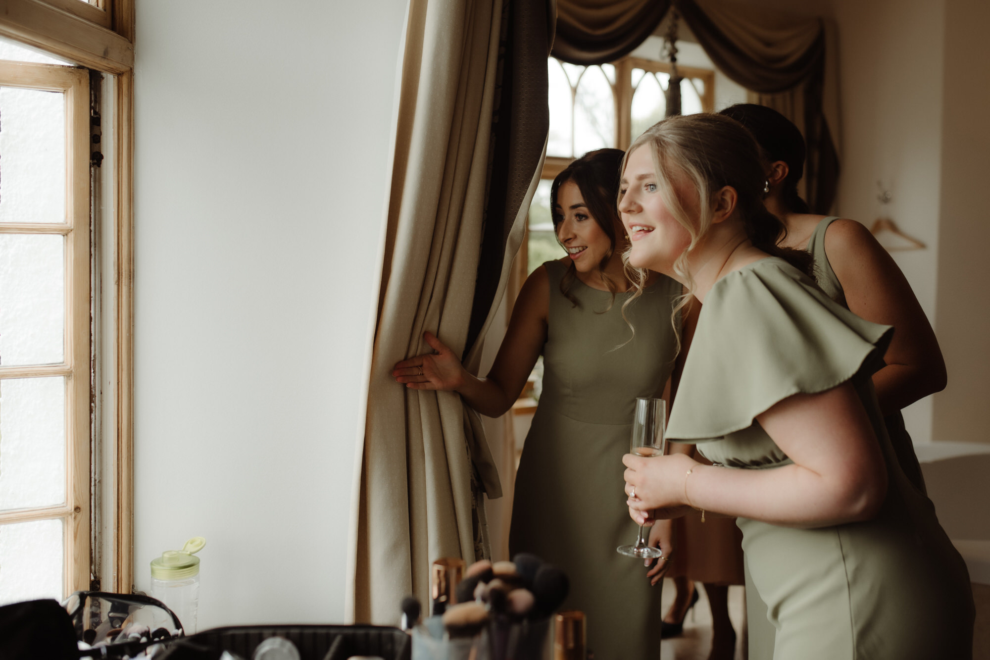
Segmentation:
[[(905, 410), (916, 442), (990, 442), (985, 247), (990, 102), (983, 0), (834, 0), (839, 25), (839, 211), (889, 214), (927, 249), (894, 253), (939, 336), (948, 386)], [(882, 207), (876, 180), (894, 196)]]

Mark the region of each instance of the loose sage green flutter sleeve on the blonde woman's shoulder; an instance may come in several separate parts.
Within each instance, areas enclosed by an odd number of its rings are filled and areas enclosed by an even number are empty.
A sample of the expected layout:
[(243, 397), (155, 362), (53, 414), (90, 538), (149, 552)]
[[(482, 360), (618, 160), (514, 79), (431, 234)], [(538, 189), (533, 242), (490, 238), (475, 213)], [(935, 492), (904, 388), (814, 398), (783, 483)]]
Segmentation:
[(667, 437), (721, 438), (749, 428), (792, 394), (868, 379), (883, 365), (892, 334), (892, 327), (837, 304), (782, 259), (753, 262), (705, 297)]

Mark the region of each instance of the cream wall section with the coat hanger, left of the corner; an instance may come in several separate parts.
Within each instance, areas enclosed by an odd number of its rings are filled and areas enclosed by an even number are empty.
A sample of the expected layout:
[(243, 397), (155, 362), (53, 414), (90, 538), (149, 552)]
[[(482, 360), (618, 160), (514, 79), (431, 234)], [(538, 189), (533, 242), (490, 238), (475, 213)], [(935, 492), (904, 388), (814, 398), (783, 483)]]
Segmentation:
[[(841, 87), (838, 213), (867, 227), (890, 216), (925, 250), (892, 253), (940, 335), (939, 267), (942, 0), (836, 0)], [(877, 181), (893, 195), (877, 199)], [(930, 442), (933, 398), (904, 411), (916, 443)], [(951, 439), (951, 438), (942, 438)]]

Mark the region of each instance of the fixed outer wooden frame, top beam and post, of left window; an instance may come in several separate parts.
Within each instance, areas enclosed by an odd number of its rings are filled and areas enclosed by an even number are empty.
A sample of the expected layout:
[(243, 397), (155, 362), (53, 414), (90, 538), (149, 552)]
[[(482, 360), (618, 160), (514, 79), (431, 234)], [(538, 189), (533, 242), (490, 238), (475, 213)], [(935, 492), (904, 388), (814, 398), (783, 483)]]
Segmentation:
[[(81, 0), (72, 1), (83, 4)], [(100, 588), (130, 593), (134, 589), (134, 0), (104, 1), (107, 4), (101, 11), (109, 16), (108, 25), (54, 6), (59, 0), (0, 0), (0, 36), (115, 76), (113, 199), (110, 200), (113, 214), (103, 218), (107, 230), (112, 231), (113, 245), (113, 254), (103, 256), (112, 264), (112, 276), (104, 277), (104, 295), (114, 297), (113, 318), (104, 319), (113, 334), (112, 355), (105, 356), (113, 373), (104, 379), (103, 398), (109, 401), (107, 408), (112, 410), (113, 418), (104, 419), (102, 436), (103, 451), (110, 454), (114, 466), (112, 475), (104, 475), (110, 488), (103, 494), (107, 500), (104, 510), (109, 517), (105, 527), (112, 536), (104, 539), (103, 545), (109, 545), (112, 557), (103, 564)], [(88, 241), (86, 246), (88, 268)], [(106, 381), (110, 382), (109, 387)], [(89, 420), (88, 397), (85, 418)], [(87, 484), (89, 479), (86, 475)], [(89, 496), (88, 489), (86, 495)], [(89, 517), (85, 517), (88, 521)], [(81, 566), (80, 562), (85, 561), (85, 570), (80, 575), (87, 578), (89, 559), (72, 558), (73, 566)], [(76, 581), (76, 585), (80, 584)], [(89, 584), (84, 587), (89, 588)]]

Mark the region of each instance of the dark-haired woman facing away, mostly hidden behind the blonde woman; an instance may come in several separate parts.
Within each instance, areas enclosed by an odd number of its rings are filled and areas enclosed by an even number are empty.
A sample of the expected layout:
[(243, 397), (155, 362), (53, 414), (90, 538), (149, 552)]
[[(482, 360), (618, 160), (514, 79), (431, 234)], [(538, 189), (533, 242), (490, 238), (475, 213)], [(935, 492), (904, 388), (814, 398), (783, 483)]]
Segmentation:
[[(932, 325), (911, 285), (890, 255), (865, 227), (838, 216), (816, 215), (798, 192), (804, 173), (805, 142), (801, 131), (772, 108), (750, 103), (733, 105), (721, 113), (743, 124), (756, 139), (764, 161), (766, 193), (763, 203), (783, 222), (777, 240), (800, 248), (815, 260), (815, 276), (829, 297), (873, 321), (894, 326), (884, 366), (873, 374), (880, 410), (901, 470), (925, 493), (921, 466), (901, 409), (945, 387), (945, 362)], [(767, 224), (767, 231), (779, 231)], [(751, 660), (773, 656), (772, 636), (765, 616), (756, 614), (761, 603), (746, 597)]]

